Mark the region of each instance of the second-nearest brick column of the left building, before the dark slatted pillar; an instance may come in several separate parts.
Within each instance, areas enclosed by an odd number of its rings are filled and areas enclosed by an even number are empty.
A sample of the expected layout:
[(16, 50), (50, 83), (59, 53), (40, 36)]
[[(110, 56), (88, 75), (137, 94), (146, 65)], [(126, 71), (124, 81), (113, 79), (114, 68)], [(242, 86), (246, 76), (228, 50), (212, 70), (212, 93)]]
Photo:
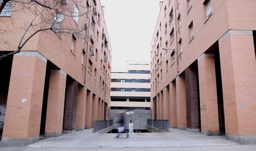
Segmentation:
[(61, 136), (67, 74), (63, 70), (51, 70), (47, 100), (45, 136)]

